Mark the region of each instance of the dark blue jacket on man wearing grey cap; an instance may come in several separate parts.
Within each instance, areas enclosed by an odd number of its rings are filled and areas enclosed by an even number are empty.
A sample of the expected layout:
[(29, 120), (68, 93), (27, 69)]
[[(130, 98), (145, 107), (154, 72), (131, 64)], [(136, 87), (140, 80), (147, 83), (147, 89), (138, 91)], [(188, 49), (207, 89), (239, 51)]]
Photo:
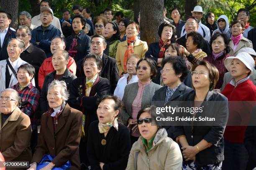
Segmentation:
[[(43, 31), (42, 25), (32, 30), (31, 42), (36, 47), (41, 48), (46, 53), (46, 57), (51, 57), (51, 39), (56, 36), (61, 36), (61, 32), (58, 28), (50, 25), (47, 30)], [(36, 44), (39, 42), (39, 45)]]

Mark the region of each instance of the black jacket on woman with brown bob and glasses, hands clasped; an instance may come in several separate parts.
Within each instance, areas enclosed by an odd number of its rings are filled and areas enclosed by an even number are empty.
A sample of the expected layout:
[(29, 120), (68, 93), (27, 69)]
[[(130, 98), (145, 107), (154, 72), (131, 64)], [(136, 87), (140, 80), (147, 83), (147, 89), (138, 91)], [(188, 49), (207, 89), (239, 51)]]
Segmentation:
[[(190, 107), (194, 106), (195, 91), (189, 92), (186, 95), (180, 97), (180, 101), (192, 101), (190, 102)], [(209, 101), (218, 101), (218, 106)], [(184, 102), (185, 103), (185, 102)], [(215, 102), (216, 103), (216, 102)], [(184, 104), (181, 104), (184, 107)], [(228, 121), (228, 99), (224, 95), (209, 91), (202, 105), (203, 111), (197, 112), (195, 117), (216, 117), (217, 120), (222, 120), (222, 122)], [(212, 111), (212, 112), (211, 112)], [(213, 115), (213, 114), (214, 115)], [(188, 113), (190, 116), (191, 114)], [(193, 116), (193, 115), (192, 115)], [(184, 123), (184, 122), (183, 122)], [(206, 140), (211, 143), (210, 148), (206, 148), (196, 155), (196, 163), (199, 165), (212, 165), (219, 163), (224, 160), (224, 130), (225, 125), (214, 125), (214, 126), (200, 126), (202, 122), (193, 122), (193, 133), (191, 122), (186, 126), (175, 126), (174, 128), (174, 138), (180, 135), (186, 135), (187, 142), (190, 146), (195, 146), (201, 140)], [(213, 122), (215, 124), (215, 122)]]

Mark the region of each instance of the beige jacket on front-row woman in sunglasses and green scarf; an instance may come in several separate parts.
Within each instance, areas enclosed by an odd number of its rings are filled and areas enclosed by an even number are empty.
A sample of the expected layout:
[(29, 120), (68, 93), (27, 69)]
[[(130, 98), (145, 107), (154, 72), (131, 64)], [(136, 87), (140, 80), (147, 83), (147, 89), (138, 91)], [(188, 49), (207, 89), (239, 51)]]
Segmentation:
[(131, 149), (126, 170), (135, 170), (135, 154), (137, 170), (181, 170), (182, 154), (179, 145), (167, 137), (164, 128), (158, 130), (154, 139), (154, 146), (146, 154), (142, 136)]

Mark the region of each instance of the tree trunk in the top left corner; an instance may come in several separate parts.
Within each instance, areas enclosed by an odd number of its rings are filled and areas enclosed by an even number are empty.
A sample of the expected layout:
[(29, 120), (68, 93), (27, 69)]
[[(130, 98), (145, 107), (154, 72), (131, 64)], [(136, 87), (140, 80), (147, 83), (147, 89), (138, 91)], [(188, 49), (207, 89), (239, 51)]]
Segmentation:
[(18, 0), (1, 0), (1, 10), (5, 10), (12, 15), (10, 27), (14, 29), (18, 28), (18, 7)]

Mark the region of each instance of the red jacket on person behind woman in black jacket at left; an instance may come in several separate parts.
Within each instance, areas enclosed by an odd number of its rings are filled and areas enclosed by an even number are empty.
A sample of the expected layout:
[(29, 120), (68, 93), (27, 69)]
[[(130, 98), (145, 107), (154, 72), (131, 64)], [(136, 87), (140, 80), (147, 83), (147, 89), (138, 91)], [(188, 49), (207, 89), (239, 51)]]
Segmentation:
[[(51, 60), (52, 60), (52, 57), (46, 58), (42, 63), (41, 67), (39, 68), (38, 86), (40, 87), (40, 89), (42, 89), (44, 85), (45, 76), (54, 71), (54, 67), (52, 65)], [(69, 71), (71, 71), (74, 75), (76, 75), (77, 65), (72, 57), (69, 57), (69, 62), (67, 64), (67, 67)]]

